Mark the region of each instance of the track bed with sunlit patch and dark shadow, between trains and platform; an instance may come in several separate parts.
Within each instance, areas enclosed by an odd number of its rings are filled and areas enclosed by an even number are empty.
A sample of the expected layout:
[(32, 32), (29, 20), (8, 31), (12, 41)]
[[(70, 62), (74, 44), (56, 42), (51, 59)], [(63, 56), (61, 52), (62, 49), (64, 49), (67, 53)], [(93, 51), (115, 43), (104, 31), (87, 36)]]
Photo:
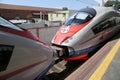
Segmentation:
[(64, 80), (69, 74), (76, 70), (83, 61), (65, 61), (56, 63), (42, 80)]

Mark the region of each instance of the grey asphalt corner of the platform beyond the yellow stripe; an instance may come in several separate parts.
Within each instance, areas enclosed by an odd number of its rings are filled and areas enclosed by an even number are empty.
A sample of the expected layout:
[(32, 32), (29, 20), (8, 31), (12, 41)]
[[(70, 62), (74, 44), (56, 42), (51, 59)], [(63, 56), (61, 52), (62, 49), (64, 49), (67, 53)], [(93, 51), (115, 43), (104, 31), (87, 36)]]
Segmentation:
[(102, 80), (120, 80), (120, 47)]

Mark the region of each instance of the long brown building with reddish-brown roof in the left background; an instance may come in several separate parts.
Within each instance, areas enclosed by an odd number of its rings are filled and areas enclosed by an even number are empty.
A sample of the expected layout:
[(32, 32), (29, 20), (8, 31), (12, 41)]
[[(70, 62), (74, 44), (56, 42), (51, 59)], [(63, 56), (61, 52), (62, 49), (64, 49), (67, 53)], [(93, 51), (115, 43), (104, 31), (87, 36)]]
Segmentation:
[(20, 6), (10, 4), (0, 4), (0, 16), (6, 19), (31, 19), (40, 18), (48, 20), (48, 13), (60, 11), (61, 9), (43, 8), (32, 6)]

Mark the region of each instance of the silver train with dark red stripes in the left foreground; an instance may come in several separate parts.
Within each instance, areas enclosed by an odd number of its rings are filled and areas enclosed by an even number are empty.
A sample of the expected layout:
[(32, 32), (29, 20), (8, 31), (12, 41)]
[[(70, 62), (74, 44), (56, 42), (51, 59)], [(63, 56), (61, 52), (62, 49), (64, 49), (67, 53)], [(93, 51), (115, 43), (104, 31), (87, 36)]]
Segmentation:
[(40, 80), (54, 62), (50, 46), (0, 17), (0, 80)]

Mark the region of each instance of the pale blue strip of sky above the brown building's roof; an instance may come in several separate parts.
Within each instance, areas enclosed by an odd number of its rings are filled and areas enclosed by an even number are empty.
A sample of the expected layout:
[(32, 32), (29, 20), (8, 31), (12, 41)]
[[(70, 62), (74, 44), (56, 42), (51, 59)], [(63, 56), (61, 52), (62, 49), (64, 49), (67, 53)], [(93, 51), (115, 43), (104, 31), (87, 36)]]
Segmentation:
[(0, 0), (0, 3), (73, 10), (99, 5), (95, 0)]

